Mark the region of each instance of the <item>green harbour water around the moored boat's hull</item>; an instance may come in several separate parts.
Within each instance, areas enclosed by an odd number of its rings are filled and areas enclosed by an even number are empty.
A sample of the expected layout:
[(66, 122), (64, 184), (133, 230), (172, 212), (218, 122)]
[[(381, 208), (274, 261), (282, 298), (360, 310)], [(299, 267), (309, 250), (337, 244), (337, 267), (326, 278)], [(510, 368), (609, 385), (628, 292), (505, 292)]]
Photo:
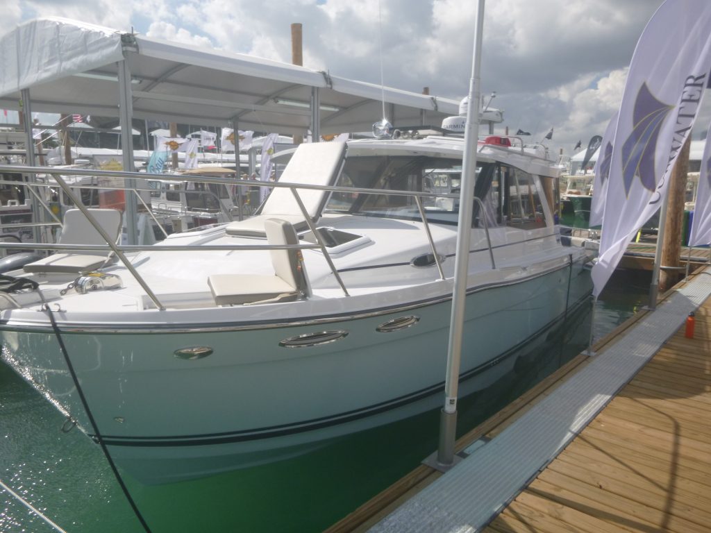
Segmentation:
[[(613, 276), (594, 311), (595, 338), (646, 303), (648, 282)], [(591, 316), (589, 306), (572, 313), (515, 372), (462, 399), (459, 434), (584, 349)], [(100, 448), (79, 431), (63, 433), (63, 422), (0, 362), (0, 480), (68, 532), (141, 532)], [(435, 410), (288, 461), (170, 485), (124, 480), (153, 532), (319, 532), (434, 451), (438, 424)], [(0, 488), (0, 532), (52, 531)]]

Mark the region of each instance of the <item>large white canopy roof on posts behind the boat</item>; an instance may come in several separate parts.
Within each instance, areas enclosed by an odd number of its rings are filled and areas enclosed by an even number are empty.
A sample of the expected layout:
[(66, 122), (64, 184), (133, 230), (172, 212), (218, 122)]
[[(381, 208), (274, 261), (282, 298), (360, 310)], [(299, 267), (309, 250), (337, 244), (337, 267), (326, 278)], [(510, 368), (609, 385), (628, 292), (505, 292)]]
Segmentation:
[[(378, 85), (62, 18), (29, 21), (0, 38), (0, 107), (18, 109), (21, 90), (29, 89), (33, 112), (116, 117), (124, 58), (137, 119), (205, 126), (236, 120), (240, 129), (305, 134), (314, 88), (321, 134), (370, 130), (383, 114)], [(395, 127), (439, 125), (458, 114), (453, 99), (384, 92)], [(493, 111), (485, 119), (501, 122)]]

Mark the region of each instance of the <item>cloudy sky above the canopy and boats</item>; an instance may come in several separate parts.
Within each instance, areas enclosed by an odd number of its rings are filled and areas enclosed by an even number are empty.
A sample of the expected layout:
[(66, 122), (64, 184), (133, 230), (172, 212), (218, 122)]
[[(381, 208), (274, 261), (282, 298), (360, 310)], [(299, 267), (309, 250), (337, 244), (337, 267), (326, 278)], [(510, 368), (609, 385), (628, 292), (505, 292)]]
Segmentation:
[[(662, 0), (486, 2), (481, 92), (503, 109), (503, 133), (529, 131), (572, 154), (602, 135), (619, 107), (636, 42)], [(0, 34), (62, 16), (196, 47), (291, 62), (303, 25), (304, 66), (333, 75), (461, 99), (469, 92), (473, 0), (0, 0)], [(381, 46), (382, 41), (382, 46)], [(382, 55), (380, 49), (382, 48)], [(693, 139), (711, 112), (697, 119)], [(373, 117), (377, 122), (381, 117)]]

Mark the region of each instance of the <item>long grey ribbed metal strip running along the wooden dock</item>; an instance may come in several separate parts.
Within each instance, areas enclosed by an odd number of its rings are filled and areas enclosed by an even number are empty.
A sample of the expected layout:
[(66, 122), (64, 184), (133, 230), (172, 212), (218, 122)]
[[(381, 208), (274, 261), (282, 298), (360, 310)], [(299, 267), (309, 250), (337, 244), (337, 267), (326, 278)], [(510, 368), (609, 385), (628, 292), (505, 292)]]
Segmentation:
[(369, 531), (471, 533), (486, 526), (582, 431), (711, 294), (695, 276), (522, 418)]

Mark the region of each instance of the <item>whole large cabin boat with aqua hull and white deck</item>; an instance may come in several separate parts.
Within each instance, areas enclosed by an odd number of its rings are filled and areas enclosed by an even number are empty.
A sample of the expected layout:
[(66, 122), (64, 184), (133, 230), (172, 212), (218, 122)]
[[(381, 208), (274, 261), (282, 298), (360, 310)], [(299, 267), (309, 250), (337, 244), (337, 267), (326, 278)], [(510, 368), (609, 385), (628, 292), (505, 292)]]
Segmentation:
[[(126, 252), (130, 269), (26, 266), (11, 276), (38, 289), (0, 293), (4, 359), (144, 483), (276, 461), (439, 407), (459, 206), (442, 186), (463, 147), (303, 144), (255, 217)], [(561, 242), (552, 216), (559, 170), (540, 155), (479, 144), (462, 396), (589, 296), (587, 252)], [(289, 183), (306, 184), (300, 201)], [(46, 262), (89, 253), (67, 252)]]

